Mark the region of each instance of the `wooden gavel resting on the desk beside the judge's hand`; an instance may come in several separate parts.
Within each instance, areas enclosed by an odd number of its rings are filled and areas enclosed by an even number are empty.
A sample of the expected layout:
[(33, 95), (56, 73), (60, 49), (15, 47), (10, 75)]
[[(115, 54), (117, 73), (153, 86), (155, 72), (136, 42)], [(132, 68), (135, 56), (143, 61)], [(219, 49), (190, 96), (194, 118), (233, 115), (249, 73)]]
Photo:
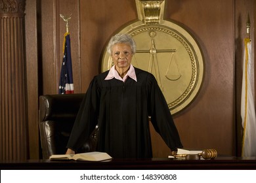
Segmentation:
[(217, 150), (215, 149), (206, 149), (198, 154), (176, 154), (175, 158), (186, 158), (186, 159), (214, 159), (217, 157)]

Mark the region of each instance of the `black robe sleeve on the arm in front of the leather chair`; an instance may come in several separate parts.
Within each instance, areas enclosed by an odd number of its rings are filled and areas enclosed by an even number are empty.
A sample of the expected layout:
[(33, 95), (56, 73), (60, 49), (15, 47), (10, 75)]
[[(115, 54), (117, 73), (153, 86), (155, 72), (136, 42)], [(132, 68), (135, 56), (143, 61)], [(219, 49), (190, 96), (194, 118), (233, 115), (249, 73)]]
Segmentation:
[(70, 139), (66, 146), (75, 152), (87, 141), (89, 135), (98, 123), (99, 93), (100, 90), (95, 77), (91, 81), (85, 97), (83, 98), (70, 134)]

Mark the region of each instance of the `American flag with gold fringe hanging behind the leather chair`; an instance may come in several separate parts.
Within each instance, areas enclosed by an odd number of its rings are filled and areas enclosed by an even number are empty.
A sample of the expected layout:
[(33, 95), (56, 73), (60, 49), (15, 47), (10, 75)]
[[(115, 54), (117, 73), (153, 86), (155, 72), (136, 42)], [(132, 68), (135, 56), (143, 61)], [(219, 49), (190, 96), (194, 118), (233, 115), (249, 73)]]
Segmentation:
[(59, 94), (74, 93), (72, 59), (70, 48), (70, 33), (65, 33), (63, 42), (64, 56), (60, 72), (60, 85), (58, 86)]

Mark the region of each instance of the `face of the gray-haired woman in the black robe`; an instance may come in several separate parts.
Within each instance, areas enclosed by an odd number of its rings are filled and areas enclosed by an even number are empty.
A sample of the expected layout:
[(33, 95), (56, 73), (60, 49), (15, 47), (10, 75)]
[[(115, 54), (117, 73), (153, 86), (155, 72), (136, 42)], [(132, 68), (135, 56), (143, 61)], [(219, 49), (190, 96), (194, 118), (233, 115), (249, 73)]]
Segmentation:
[(133, 54), (131, 46), (127, 43), (117, 43), (112, 46), (112, 59), (116, 69), (127, 69), (130, 67)]

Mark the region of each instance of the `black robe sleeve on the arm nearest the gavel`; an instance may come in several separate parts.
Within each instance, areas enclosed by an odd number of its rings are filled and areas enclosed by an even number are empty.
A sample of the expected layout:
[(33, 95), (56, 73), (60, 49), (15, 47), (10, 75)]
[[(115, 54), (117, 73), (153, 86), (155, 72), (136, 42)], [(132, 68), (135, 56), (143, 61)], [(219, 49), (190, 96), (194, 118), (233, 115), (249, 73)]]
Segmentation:
[(154, 129), (160, 134), (171, 150), (182, 148), (179, 132), (173, 122), (165, 97), (153, 75), (150, 75), (150, 78), (148, 78), (148, 91), (148, 113), (151, 116)]

